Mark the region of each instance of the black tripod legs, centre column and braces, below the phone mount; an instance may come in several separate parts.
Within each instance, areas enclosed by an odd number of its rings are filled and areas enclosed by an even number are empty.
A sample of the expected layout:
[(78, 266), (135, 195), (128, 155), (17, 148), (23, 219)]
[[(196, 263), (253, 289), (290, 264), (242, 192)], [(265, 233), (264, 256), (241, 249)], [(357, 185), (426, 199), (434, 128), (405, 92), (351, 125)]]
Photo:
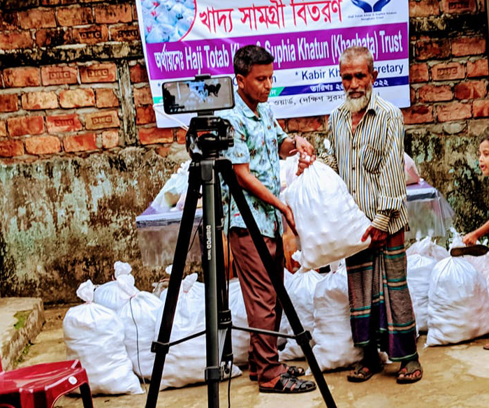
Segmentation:
[[(228, 184), (231, 196), (233, 196), (238, 209), (245, 220), (251, 238), (256, 250), (260, 255), (261, 261), (268, 271), (270, 280), (273, 284), (277, 298), (282, 304), (282, 308), (289, 319), (291, 328), (295, 336), (284, 336), (295, 338), (302, 351), (304, 352), (309, 367), (314, 374), (316, 384), (323, 395), (323, 400), (328, 408), (336, 408), (335, 401), (331, 395), (326, 380), (323, 377), (321, 369), (312, 352), (309, 340), (311, 335), (305, 331), (299, 321), (298, 315), (293, 308), (282, 279), (273, 274), (275, 270), (274, 263), (268, 247), (256, 225), (253, 214), (247, 205), (245, 195), (242, 192), (238, 179), (233, 171), (231, 161), (219, 156), (219, 150), (214, 150), (210, 154), (204, 154), (201, 159), (192, 159), (189, 168), (189, 188), (187, 198), (184, 204), (182, 214), (182, 224), (177, 238), (175, 256), (173, 258), (173, 268), (168, 284), (168, 293), (166, 296), (165, 306), (163, 308), (163, 317), (159, 330), (158, 340), (153, 342), (152, 351), (156, 353), (154, 359), (151, 382), (146, 401), (146, 408), (156, 408), (158, 399), (159, 384), (163, 372), (166, 354), (169, 347), (190, 340), (191, 338), (203, 335), (206, 340), (206, 363), (205, 382), (207, 383), (207, 404), (209, 408), (219, 408), (219, 381), (221, 379), (220, 355), (219, 355), (219, 332), (226, 333), (228, 349), (228, 358), (232, 358), (231, 352), (231, 328), (246, 330), (251, 333), (262, 333), (266, 335), (282, 336), (270, 330), (260, 330), (256, 328), (238, 328), (232, 326), (231, 311), (228, 310), (228, 299), (226, 285), (224, 282), (224, 249), (222, 245), (222, 234), (216, 233), (217, 230), (217, 206), (221, 206), (221, 190), (219, 184), (219, 174)], [(182, 282), (185, 259), (191, 238), (192, 226), (197, 207), (200, 186), (203, 187), (203, 270), (205, 279), (205, 332), (196, 333), (184, 339), (175, 342), (169, 342), (175, 309), (177, 307), (178, 293), (180, 292), (180, 283)], [(220, 221), (219, 221), (220, 223)], [(219, 253), (218, 253), (219, 252)], [(219, 295), (219, 296), (218, 296)], [(231, 375), (231, 373), (230, 373)]]

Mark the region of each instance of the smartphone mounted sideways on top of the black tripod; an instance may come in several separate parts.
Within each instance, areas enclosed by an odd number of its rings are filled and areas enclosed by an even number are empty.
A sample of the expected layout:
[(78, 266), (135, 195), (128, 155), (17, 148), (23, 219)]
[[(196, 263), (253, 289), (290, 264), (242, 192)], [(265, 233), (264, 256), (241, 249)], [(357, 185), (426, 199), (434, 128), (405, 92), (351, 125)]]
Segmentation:
[(231, 109), (234, 106), (231, 77), (196, 78), (164, 82), (163, 110), (168, 114)]

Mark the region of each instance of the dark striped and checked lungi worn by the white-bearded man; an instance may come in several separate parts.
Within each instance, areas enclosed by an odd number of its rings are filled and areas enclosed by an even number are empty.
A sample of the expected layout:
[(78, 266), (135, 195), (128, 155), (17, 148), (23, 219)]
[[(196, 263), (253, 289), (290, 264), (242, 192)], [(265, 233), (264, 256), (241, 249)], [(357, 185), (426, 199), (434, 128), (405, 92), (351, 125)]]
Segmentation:
[(404, 228), (388, 235), (385, 247), (346, 258), (353, 343), (356, 347), (376, 343), (393, 361), (417, 356), (406, 267)]

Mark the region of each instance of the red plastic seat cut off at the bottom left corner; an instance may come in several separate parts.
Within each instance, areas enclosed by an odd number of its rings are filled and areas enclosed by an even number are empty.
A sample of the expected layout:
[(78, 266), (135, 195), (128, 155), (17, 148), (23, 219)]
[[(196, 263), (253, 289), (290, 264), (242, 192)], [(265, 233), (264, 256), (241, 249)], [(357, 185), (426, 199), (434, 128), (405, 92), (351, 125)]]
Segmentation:
[(94, 408), (85, 368), (80, 361), (58, 361), (3, 371), (0, 360), (0, 408), (52, 408), (80, 387), (83, 407)]

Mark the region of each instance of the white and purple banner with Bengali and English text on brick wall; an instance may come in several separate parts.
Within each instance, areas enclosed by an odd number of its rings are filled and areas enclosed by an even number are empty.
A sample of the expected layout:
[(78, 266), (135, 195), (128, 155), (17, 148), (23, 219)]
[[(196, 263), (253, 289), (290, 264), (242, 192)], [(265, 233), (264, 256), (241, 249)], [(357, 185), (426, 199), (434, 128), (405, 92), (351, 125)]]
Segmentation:
[(269, 102), (278, 118), (326, 115), (344, 99), (338, 59), (363, 45), (374, 56), (375, 92), (400, 108), (409, 98), (408, 0), (136, 0), (156, 124), (188, 124), (163, 114), (161, 84), (230, 75), (247, 44), (275, 56)]

